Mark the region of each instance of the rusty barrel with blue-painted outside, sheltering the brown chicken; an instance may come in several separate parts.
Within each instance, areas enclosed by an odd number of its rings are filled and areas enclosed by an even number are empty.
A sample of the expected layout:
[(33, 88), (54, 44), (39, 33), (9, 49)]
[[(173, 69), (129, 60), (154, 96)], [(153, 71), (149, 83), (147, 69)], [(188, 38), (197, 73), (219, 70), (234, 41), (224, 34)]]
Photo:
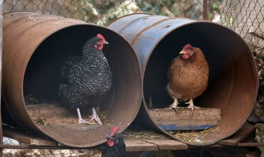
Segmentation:
[[(247, 120), (257, 96), (258, 77), (253, 55), (234, 31), (209, 21), (195, 21), (147, 14), (131, 14), (108, 25), (134, 47), (143, 74), (142, 124), (189, 145), (210, 145), (231, 136)], [(203, 143), (188, 142), (162, 130), (148, 115), (147, 105), (168, 107), (172, 99), (165, 86), (170, 61), (190, 43), (205, 54), (210, 74), (208, 88), (194, 104), (220, 108), (218, 129), (206, 134)], [(147, 123), (148, 122), (148, 123)]]

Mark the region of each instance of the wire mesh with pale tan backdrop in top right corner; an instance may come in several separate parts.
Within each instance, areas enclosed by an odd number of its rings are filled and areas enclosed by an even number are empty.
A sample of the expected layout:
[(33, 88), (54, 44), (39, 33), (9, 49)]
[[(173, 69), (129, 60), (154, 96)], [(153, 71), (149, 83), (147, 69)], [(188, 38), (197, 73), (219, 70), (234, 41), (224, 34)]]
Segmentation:
[(255, 53), (264, 52), (264, 1), (227, 1), (219, 23), (240, 34)]

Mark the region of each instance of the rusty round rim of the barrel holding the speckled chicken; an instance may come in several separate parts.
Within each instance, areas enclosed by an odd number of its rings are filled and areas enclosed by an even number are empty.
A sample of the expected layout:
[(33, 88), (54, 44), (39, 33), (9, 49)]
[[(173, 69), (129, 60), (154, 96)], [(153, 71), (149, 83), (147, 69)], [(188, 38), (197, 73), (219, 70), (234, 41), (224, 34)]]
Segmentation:
[[(14, 11), (14, 12), (21, 12), (21, 11)], [(24, 12), (24, 11), (22, 11), (22, 12)], [(31, 12), (31, 11), (25, 11), (25, 12)], [(9, 13), (13, 13), (13, 12), (9, 12)], [(8, 14), (8, 13), (6, 13), (6, 14)], [(40, 15), (41, 15), (41, 14), (40, 14)], [(60, 17), (60, 16), (57, 16), (57, 17)], [(64, 18), (64, 19), (72, 19), (72, 18)], [(75, 19), (75, 20), (77, 20), (77, 19)], [(79, 20), (79, 21), (81, 21), (81, 20)], [(109, 30), (109, 31), (112, 31), (112, 32), (116, 33), (119, 37), (121, 37), (123, 40), (125, 40), (125, 41), (131, 46), (131, 44), (129, 43), (129, 41), (127, 41), (127, 39), (125, 39), (123, 36), (121, 36), (119, 33), (117, 33), (116, 31), (114, 31), (114, 30), (112, 30), (112, 29), (109, 29), (109, 28), (104, 27), (104, 26), (98, 26), (98, 25), (95, 25), (95, 24), (86, 23), (86, 22), (84, 22), (84, 21), (82, 21), (82, 22), (83, 22), (83, 24), (71, 24), (71, 25), (69, 25), (69, 26), (65, 26), (65, 27), (59, 28), (59, 29), (55, 30), (54, 32), (51, 32), (50, 34), (47, 34), (47, 36), (46, 36), (45, 38), (43, 38), (38, 44), (36, 44), (36, 47), (35, 47), (35, 49), (33, 50), (33, 52), (37, 49), (37, 47), (38, 47), (38, 46), (39, 46), (44, 40), (46, 40), (49, 36), (51, 36), (52, 34), (56, 33), (57, 31), (60, 31), (60, 30), (65, 29), (65, 28), (70, 28), (70, 27), (75, 27), (75, 26), (82, 26), (82, 25), (96, 26), (96, 27), (101, 27), (101, 28), (103, 28), (103, 29), (107, 29), (107, 30)], [(138, 64), (138, 67), (140, 68), (140, 63), (139, 63), (138, 55), (136, 54), (136, 51), (135, 51), (135, 49), (133, 48), (133, 46), (131, 46), (131, 48), (132, 48), (133, 51), (134, 51), (134, 54), (133, 54), (133, 55), (137, 58), (137, 60), (138, 60), (138, 61), (137, 61), (137, 64)], [(28, 58), (28, 60), (26, 60), (27, 64), (29, 63), (29, 60), (30, 60), (30, 58), (31, 58), (32, 55), (33, 55), (33, 53), (30, 55), (30, 57)], [(24, 82), (24, 77), (25, 77), (26, 68), (27, 68), (27, 66), (23, 68), (23, 69), (24, 69), (24, 70), (23, 70), (23, 80), (22, 80), (23, 82)], [(142, 72), (141, 72), (141, 70), (140, 70), (139, 73), (140, 73), (140, 76), (138, 76), (138, 77), (140, 77), (140, 80), (142, 80)], [(23, 89), (23, 85), (24, 85), (24, 84), (22, 84), (22, 89)], [(141, 102), (142, 102), (142, 97), (143, 97), (143, 91), (142, 91), (143, 88), (142, 88), (142, 87), (143, 87), (143, 81), (141, 81), (141, 83), (140, 83), (141, 91), (140, 91), (140, 101), (139, 101), (139, 104), (141, 104)], [(24, 91), (22, 91), (22, 94), (24, 95)], [(137, 112), (136, 112), (134, 118), (131, 118), (130, 121), (127, 123), (127, 127), (128, 127), (128, 126), (134, 121), (134, 119), (136, 118), (136, 115), (137, 115), (138, 112), (139, 112), (140, 106), (141, 106), (141, 105), (138, 106), (138, 108), (137, 108)], [(28, 115), (28, 117), (30, 117), (30, 115), (29, 115), (29, 113), (28, 113), (28, 111), (27, 111), (27, 107), (26, 107), (26, 105), (24, 105), (24, 107), (25, 107), (25, 110), (26, 110), (26, 114)], [(31, 126), (33, 126), (33, 127), (35, 128), (35, 130), (37, 130), (37, 131), (39, 131), (39, 132), (45, 134), (46, 136), (52, 138), (52, 136), (50, 136), (48, 133), (46, 133), (46, 131), (43, 131), (40, 127), (38, 127), (38, 126), (33, 122), (33, 120), (32, 120), (31, 117), (30, 117), (30, 121), (31, 121), (31, 123), (33, 124), (33, 125), (31, 125)], [(119, 131), (122, 132), (122, 131), (124, 131), (124, 130), (125, 130), (125, 129), (121, 129), (121, 130), (119, 130)], [(52, 139), (54, 139), (54, 138), (52, 138)], [(55, 139), (54, 139), (54, 140), (55, 140)], [(56, 140), (55, 140), (55, 141), (56, 141)], [(59, 141), (57, 141), (57, 142), (59, 142)], [(79, 147), (79, 148), (94, 147), (94, 146), (98, 146), (98, 145), (100, 145), (100, 144), (103, 144), (103, 143), (105, 143), (105, 142), (106, 142), (106, 140), (102, 140), (102, 141), (100, 141), (100, 142), (93, 143), (93, 144), (91, 144), (91, 145), (82, 145), (82, 146), (78, 146), (78, 147)], [(62, 144), (64, 144), (64, 145), (68, 145), (68, 146), (71, 146), (71, 147), (75, 147), (75, 146), (76, 146), (76, 145), (65, 144), (65, 143), (62, 143)]]

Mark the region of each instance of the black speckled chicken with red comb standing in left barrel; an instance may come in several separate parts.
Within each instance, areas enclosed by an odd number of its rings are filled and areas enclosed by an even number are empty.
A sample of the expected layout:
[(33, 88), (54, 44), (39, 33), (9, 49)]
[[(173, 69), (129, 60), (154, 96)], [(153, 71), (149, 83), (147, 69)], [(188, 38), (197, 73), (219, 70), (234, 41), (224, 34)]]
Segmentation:
[[(95, 107), (110, 91), (113, 75), (102, 49), (108, 44), (101, 34), (84, 43), (82, 55), (65, 59), (61, 76), (67, 80), (59, 85), (58, 95), (61, 103), (77, 110), (78, 123), (90, 124), (93, 120), (102, 124)], [(82, 119), (80, 108), (92, 107), (90, 122)]]

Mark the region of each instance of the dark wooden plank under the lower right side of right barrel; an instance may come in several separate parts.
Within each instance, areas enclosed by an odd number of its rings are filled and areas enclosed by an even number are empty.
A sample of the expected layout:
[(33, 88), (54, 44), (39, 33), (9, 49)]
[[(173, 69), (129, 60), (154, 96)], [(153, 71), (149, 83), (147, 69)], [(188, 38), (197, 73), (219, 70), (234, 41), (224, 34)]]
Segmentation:
[(255, 125), (246, 122), (238, 131), (236, 131), (231, 137), (219, 141), (218, 144), (235, 146), (247, 136), (249, 136), (255, 130)]

